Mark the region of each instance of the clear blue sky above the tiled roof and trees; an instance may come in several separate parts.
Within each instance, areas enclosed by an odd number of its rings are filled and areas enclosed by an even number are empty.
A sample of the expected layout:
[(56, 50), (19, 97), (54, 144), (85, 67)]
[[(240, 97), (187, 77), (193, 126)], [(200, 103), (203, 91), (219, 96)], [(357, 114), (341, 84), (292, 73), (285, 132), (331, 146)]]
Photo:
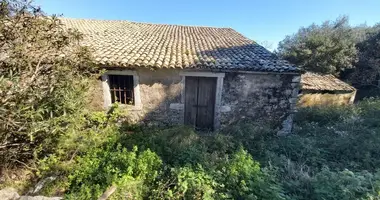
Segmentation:
[(348, 15), (353, 25), (380, 22), (380, 0), (36, 0), (48, 14), (163, 24), (231, 27), (275, 48), (313, 22)]

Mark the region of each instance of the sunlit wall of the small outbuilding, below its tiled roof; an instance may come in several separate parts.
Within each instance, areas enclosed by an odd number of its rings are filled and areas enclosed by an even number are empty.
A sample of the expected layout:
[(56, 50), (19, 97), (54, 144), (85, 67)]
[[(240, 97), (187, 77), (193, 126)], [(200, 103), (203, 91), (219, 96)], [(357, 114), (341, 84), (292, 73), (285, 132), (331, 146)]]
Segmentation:
[(347, 105), (352, 104), (355, 100), (355, 92), (342, 93), (320, 93), (311, 91), (302, 91), (297, 106), (307, 107), (315, 105)]

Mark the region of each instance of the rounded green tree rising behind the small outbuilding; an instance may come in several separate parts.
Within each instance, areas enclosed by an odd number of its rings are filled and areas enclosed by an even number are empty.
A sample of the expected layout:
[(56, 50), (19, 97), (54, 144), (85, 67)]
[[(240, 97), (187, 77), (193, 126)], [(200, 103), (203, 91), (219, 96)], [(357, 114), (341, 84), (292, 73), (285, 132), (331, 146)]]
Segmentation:
[(338, 75), (357, 61), (355, 36), (347, 17), (312, 24), (279, 43), (277, 54), (304, 70)]

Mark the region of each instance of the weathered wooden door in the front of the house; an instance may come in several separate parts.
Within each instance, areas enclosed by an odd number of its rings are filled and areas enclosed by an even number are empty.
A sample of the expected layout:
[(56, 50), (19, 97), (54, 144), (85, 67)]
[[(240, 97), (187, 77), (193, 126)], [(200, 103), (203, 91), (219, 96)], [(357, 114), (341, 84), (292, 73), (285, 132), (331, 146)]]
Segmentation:
[(215, 93), (215, 77), (186, 77), (185, 124), (213, 130)]

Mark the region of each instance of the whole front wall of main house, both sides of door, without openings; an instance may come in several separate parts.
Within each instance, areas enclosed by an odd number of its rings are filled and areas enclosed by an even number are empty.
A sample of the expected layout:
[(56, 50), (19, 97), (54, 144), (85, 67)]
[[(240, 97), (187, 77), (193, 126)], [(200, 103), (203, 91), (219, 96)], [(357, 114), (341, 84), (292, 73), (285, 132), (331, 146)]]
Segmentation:
[[(142, 108), (127, 106), (129, 120), (157, 125), (182, 124), (180, 71), (140, 69), (137, 75)], [(240, 119), (284, 121), (295, 107), (298, 86), (299, 76), (294, 75), (226, 72), (219, 112), (221, 127)], [(101, 99), (96, 98), (96, 101)]]

